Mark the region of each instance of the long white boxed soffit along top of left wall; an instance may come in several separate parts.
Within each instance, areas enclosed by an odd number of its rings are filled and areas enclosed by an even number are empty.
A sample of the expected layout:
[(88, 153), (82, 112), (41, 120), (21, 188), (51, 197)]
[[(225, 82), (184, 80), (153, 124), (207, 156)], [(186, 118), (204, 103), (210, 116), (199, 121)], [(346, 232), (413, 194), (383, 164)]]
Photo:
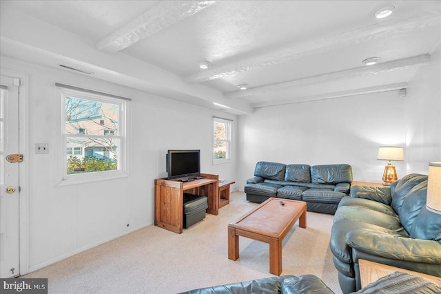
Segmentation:
[[(237, 115), (252, 114), (254, 111), (245, 101), (227, 99), (222, 93), (204, 85), (189, 85), (184, 83), (181, 76), (127, 54), (99, 52), (83, 37), (39, 19), (26, 17), (22, 12), (7, 6), (1, 7), (0, 28), (2, 62), (3, 57), (8, 56), (25, 63), (55, 67), (59, 71), (72, 73), (59, 67), (59, 64), (63, 64), (93, 72), (94, 78), (103, 81), (183, 103), (218, 109), (213, 104), (216, 102), (228, 106), (226, 112)], [(0, 65), (6, 66), (3, 63)]]

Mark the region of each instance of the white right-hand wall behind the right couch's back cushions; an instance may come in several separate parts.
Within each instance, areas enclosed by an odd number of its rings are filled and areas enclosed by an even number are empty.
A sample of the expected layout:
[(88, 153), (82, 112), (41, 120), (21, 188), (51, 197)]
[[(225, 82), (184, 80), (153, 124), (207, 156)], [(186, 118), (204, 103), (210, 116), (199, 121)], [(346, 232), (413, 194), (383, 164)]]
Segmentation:
[(405, 99), (407, 172), (427, 174), (441, 161), (441, 45), (412, 78)]

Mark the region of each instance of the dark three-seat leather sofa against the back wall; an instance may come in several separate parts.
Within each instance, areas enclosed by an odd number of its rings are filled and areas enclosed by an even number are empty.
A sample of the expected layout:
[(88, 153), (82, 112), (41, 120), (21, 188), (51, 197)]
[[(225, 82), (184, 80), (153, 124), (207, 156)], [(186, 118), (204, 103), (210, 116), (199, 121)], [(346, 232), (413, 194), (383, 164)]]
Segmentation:
[(350, 165), (285, 165), (259, 161), (254, 178), (245, 185), (247, 200), (261, 203), (270, 197), (302, 200), (307, 211), (334, 214), (352, 182)]

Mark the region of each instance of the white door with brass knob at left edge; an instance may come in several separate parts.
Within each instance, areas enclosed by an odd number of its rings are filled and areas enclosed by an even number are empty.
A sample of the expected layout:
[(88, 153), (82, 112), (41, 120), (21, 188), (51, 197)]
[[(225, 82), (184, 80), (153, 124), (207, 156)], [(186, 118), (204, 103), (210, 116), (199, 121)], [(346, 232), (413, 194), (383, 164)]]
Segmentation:
[[(15, 85), (14, 85), (15, 84)], [(19, 275), (19, 79), (0, 76), (0, 277)], [(12, 161), (12, 162), (10, 162)]]

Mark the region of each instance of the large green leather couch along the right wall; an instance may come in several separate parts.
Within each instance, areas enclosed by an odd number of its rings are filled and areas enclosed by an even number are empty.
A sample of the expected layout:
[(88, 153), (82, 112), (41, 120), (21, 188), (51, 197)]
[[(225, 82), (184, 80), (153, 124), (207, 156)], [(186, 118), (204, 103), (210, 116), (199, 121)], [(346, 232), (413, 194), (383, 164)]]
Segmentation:
[(343, 293), (360, 289), (358, 260), (441, 277), (441, 215), (426, 209), (427, 176), (353, 186), (334, 216), (330, 247)]

